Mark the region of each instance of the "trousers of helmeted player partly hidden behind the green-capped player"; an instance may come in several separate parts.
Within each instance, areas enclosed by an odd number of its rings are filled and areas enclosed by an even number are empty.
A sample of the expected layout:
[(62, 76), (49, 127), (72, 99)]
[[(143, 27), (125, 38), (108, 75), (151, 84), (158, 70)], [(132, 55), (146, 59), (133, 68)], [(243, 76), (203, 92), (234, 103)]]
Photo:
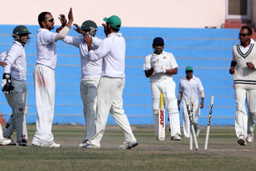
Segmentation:
[(80, 93), (83, 102), (83, 114), (86, 119), (86, 136), (89, 140), (95, 135), (95, 118), (97, 106), (97, 89), (101, 77), (88, 78), (80, 83)]

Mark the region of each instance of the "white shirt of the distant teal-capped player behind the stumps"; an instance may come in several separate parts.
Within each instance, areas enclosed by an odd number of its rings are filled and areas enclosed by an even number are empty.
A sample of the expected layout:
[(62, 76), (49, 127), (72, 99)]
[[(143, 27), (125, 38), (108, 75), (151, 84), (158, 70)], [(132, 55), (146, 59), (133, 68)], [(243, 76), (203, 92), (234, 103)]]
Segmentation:
[(188, 81), (186, 78), (182, 78), (178, 85), (178, 91), (182, 92), (182, 100), (198, 100), (198, 93), (203, 90), (202, 82), (199, 78), (193, 76)]

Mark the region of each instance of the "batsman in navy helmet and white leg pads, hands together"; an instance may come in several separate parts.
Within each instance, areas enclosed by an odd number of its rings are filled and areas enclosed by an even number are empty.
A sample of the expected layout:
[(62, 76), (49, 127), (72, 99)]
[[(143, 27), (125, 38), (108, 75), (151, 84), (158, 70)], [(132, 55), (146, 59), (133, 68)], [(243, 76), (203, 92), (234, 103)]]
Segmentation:
[(175, 82), (172, 75), (178, 73), (178, 65), (174, 55), (163, 50), (164, 40), (154, 38), (154, 53), (146, 56), (143, 65), (146, 78), (150, 77), (154, 113), (155, 136), (158, 140), (158, 109), (160, 109), (160, 94), (163, 93), (164, 103), (170, 119), (171, 140), (181, 140), (180, 122)]

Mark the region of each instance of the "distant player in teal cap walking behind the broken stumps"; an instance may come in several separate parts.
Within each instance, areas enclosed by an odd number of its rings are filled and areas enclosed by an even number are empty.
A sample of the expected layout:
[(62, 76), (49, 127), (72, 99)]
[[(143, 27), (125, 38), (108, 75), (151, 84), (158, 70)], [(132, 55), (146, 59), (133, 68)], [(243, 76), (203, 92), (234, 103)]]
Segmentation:
[[(200, 92), (201, 103), (198, 101), (198, 93)], [(186, 66), (186, 77), (182, 78), (178, 85), (178, 109), (182, 101), (182, 121), (184, 137), (190, 137), (190, 118), (186, 109), (186, 101), (193, 105), (193, 122), (195, 134), (198, 137), (200, 132), (198, 118), (200, 117), (200, 109), (203, 108), (203, 101), (205, 93), (203, 90), (202, 82), (199, 78), (194, 77), (193, 67)]]

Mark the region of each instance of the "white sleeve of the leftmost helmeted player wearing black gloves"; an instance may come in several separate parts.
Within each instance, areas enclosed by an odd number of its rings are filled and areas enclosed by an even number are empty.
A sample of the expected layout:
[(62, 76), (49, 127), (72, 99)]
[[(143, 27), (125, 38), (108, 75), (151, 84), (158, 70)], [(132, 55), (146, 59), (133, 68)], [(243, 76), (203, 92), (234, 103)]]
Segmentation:
[(17, 44), (14, 44), (11, 46), (10, 50), (8, 50), (6, 59), (4, 62), (6, 62), (6, 66), (4, 68), (4, 72), (10, 74), (10, 68), (16, 61), (16, 59), (20, 56), (20, 53), (22, 52), (21, 46), (18, 46)]

